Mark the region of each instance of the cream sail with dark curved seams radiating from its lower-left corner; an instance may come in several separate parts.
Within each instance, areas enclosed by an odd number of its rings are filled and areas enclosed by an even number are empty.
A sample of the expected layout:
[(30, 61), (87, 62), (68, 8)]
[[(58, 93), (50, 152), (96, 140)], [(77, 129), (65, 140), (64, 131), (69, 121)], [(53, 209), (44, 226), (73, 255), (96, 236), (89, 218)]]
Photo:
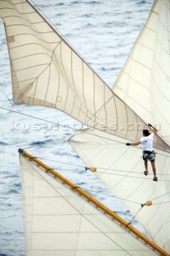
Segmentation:
[[(0, 0), (13, 101), (57, 108), (79, 122), (127, 140), (145, 123), (80, 58), (27, 0)], [(133, 127), (132, 127), (133, 124)], [(168, 149), (160, 138), (156, 147)]]

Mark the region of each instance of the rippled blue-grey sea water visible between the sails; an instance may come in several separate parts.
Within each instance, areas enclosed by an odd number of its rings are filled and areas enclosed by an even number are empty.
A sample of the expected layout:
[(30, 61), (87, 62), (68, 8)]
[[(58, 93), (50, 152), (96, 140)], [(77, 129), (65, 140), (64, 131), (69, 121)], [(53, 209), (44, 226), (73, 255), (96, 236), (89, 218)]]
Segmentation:
[[(152, 3), (151, 0), (34, 1), (34, 4), (50, 19), (60, 34), (110, 87), (116, 81), (136, 37), (144, 26)], [(12, 101), (10, 62), (5, 40), (1, 21), (0, 82)], [(132, 215), (123, 204), (113, 197), (100, 181), (95, 179), (93, 174), (85, 171), (84, 164), (67, 140), (51, 143), (74, 134), (74, 129), (80, 128), (81, 124), (55, 109), (12, 106), (10, 101), (5, 98), (2, 87), (0, 107), (33, 116), (19, 115), (0, 109), (1, 256), (25, 255), (19, 148), (27, 148), (26, 150), (31, 155), (41, 157), (47, 165), (60, 169), (60, 173), (64, 177), (76, 183), (77, 186), (89, 189), (88, 193), (97, 197), (126, 221), (131, 221)], [(59, 125), (52, 125), (49, 122), (56, 122)], [(37, 127), (41, 127), (41, 129), (37, 129)], [(42, 143), (51, 144), (42, 146)], [(49, 161), (49, 159), (58, 162)], [(135, 220), (132, 225), (147, 235)]]

